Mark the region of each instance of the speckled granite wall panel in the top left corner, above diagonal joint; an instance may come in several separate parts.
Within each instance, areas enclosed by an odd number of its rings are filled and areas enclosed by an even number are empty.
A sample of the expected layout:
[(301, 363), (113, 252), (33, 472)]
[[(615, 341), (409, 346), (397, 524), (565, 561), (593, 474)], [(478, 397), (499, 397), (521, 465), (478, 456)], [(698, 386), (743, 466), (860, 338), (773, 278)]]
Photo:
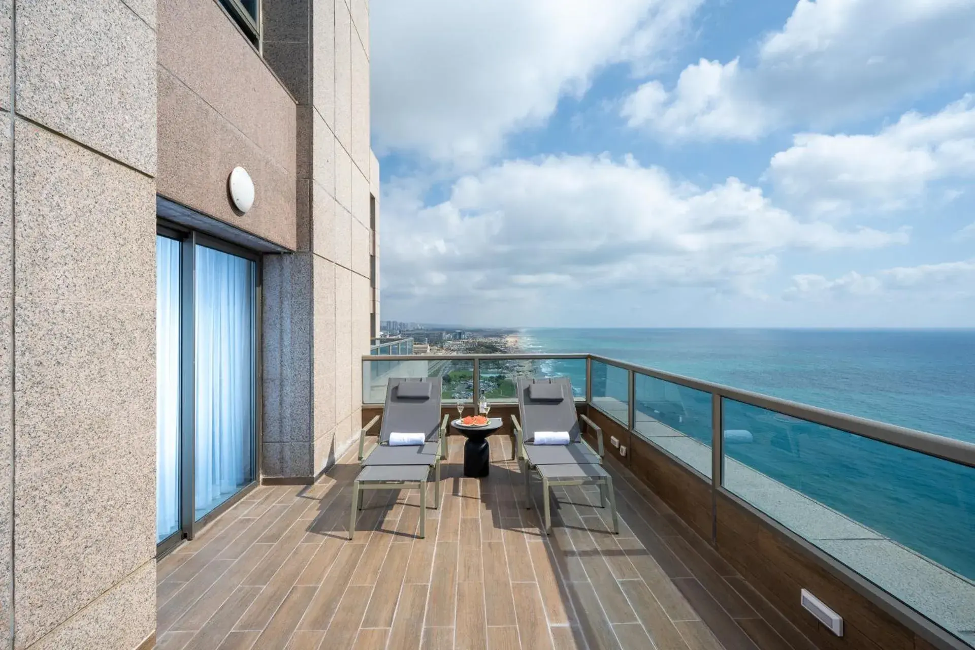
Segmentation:
[(21, 2), (16, 37), (20, 115), (156, 172), (152, 27), (120, 0)]

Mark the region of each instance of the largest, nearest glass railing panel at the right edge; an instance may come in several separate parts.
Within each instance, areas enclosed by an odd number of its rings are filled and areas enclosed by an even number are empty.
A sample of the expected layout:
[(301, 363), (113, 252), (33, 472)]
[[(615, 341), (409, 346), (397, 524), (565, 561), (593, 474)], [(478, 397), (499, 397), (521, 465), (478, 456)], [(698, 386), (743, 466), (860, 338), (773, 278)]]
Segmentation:
[(724, 400), (724, 487), (969, 643), (975, 469)]

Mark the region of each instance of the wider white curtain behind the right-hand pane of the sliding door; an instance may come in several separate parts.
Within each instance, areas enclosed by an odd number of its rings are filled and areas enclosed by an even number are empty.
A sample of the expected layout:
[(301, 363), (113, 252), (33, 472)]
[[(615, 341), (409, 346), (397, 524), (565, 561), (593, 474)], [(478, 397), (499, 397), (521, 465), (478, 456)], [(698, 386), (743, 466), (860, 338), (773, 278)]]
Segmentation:
[(255, 266), (196, 247), (196, 518), (254, 479)]

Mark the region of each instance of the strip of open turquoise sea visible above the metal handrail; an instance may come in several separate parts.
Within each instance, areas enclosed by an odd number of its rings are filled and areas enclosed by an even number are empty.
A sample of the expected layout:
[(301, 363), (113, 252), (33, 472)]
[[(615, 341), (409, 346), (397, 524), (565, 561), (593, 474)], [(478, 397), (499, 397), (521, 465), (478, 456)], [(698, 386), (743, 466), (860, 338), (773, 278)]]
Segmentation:
[(975, 329), (523, 329), (591, 353), (975, 442)]

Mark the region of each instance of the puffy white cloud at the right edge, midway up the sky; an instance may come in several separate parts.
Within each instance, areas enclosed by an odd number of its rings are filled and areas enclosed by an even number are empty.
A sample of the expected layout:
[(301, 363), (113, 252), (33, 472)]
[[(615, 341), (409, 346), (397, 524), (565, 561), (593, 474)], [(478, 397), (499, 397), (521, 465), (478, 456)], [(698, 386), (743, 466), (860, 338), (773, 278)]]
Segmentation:
[(817, 214), (910, 207), (935, 181), (975, 177), (975, 96), (874, 135), (798, 134), (765, 177), (777, 198)]

